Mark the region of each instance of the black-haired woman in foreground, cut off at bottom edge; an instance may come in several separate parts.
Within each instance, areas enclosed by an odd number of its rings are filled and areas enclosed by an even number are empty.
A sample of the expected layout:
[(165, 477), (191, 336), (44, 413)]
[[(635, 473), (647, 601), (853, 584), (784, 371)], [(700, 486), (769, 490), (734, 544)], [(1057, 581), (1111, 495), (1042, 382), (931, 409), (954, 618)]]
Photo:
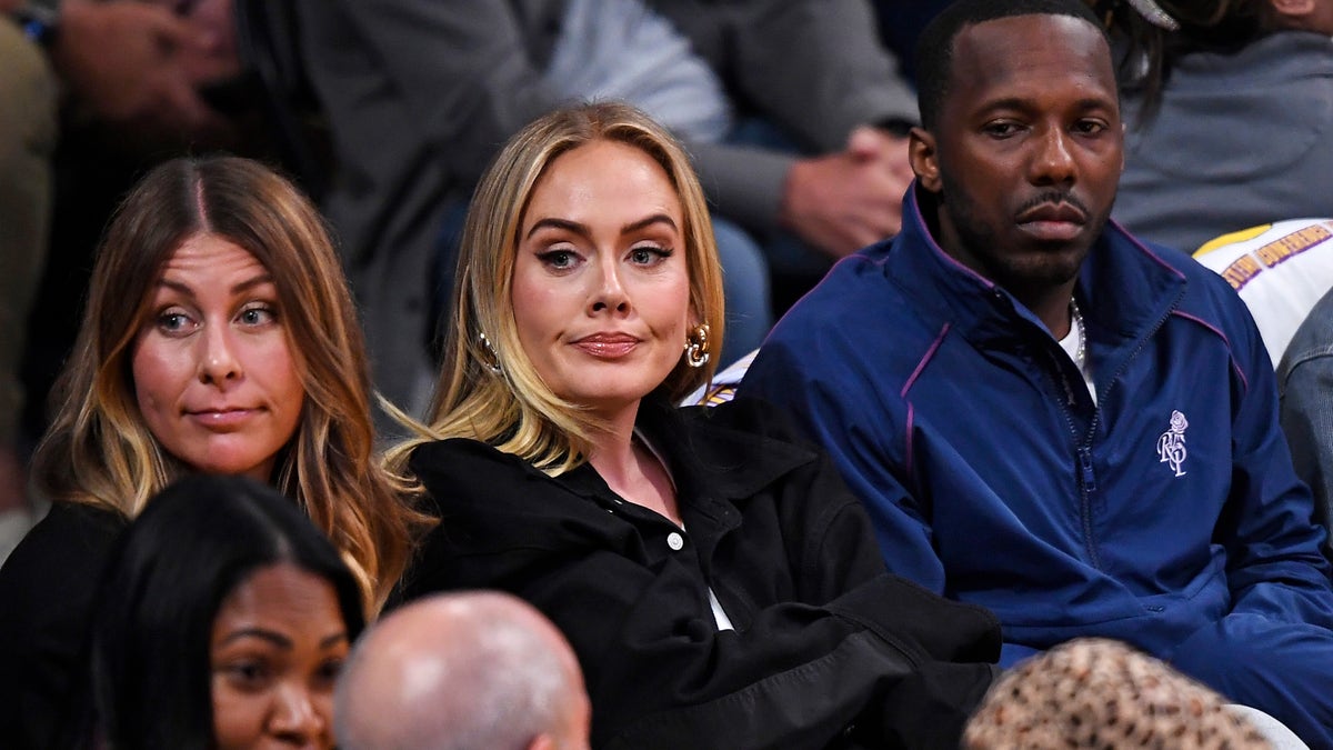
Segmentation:
[(337, 550), (273, 488), (189, 476), (108, 560), (75, 747), (332, 747), (337, 671), (364, 627)]

